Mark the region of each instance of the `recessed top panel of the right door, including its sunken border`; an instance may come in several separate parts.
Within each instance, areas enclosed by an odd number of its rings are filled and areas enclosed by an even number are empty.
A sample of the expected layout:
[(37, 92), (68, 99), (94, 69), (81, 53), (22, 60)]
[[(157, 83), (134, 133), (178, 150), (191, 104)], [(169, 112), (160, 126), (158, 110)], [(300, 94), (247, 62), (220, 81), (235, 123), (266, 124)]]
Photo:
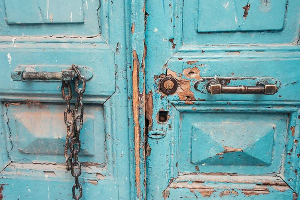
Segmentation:
[(186, 45), (297, 43), (296, 0), (189, 0), (182, 14)]

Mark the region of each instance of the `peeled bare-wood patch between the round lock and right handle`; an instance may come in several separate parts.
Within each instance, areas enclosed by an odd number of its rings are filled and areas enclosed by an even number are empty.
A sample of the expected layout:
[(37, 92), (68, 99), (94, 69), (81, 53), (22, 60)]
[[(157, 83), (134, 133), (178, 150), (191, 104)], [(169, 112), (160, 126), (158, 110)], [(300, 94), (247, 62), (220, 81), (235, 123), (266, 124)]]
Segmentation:
[(182, 77), (178, 77), (177, 73), (168, 69), (167, 70), (167, 75), (168, 76), (172, 76), (173, 78), (176, 78), (178, 81), (178, 89), (175, 92), (175, 94), (178, 95), (180, 100), (184, 100), (186, 101), (185, 103), (189, 103), (189, 104), (193, 104), (193, 102), (196, 100), (194, 97), (194, 93), (190, 90), (191, 86), (190, 86), (190, 81), (191, 80), (187, 80), (187, 79), (183, 79)]

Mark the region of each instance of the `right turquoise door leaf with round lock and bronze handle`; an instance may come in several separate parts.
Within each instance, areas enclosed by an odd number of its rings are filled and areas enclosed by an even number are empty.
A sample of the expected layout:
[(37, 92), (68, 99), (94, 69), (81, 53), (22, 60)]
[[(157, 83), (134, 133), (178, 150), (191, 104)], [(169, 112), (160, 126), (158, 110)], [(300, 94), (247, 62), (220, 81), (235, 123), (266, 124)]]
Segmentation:
[(299, 9), (146, 1), (147, 199), (297, 199)]

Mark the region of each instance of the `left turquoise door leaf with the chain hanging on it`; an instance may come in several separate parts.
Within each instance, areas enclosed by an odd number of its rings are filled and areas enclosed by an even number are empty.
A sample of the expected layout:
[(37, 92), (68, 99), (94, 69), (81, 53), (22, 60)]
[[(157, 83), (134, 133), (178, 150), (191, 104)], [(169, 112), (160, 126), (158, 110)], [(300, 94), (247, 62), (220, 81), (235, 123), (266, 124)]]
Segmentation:
[(72, 199), (61, 80), (11, 78), (72, 64), (87, 80), (81, 199), (136, 198), (129, 16), (127, 0), (0, 0), (0, 199)]

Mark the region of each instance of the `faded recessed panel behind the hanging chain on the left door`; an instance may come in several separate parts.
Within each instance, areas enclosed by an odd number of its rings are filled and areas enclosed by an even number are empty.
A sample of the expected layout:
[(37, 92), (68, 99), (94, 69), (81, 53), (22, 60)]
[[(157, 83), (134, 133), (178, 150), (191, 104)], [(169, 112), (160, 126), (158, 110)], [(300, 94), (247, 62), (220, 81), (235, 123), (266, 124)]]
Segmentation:
[[(23, 102), (6, 103), (5, 107), (14, 146), (10, 152), (12, 161), (65, 162), (66, 126), (61, 112), (65, 105)], [(104, 110), (101, 105), (87, 105), (85, 112), (80, 155), (83, 162), (103, 167), (106, 157)]]

